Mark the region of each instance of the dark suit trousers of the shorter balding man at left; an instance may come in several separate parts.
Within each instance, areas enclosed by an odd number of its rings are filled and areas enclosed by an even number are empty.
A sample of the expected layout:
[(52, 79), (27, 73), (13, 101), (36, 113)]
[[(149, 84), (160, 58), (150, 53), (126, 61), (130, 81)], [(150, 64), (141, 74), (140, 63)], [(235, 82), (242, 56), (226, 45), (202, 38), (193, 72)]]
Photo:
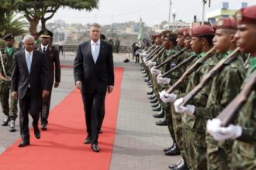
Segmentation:
[(29, 140), (29, 114), (33, 118), (33, 128), (38, 125), (40, 110), (42, 108), (41, 98), (32, 98), (30, 88), (26, 90), (26, 94), (19, 99), (19, 126), (20, 134), (23, 140)]

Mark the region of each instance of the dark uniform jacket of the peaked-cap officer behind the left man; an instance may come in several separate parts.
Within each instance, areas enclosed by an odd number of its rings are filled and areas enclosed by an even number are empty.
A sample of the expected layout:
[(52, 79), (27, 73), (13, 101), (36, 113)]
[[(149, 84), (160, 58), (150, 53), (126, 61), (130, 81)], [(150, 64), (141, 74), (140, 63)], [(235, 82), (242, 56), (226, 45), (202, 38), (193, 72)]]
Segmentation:
[[(43, 52), (41, 46), (38, 50)], [(47, 63), (50, 68), (50, 84), (54, 84), (54, 72), (55, 72), (55, 82), (61, 82), (61, 65), (60, 65), (60, 57), (57, 49), (54, 49), (52, 46), (48, 45), (46, 52)]]

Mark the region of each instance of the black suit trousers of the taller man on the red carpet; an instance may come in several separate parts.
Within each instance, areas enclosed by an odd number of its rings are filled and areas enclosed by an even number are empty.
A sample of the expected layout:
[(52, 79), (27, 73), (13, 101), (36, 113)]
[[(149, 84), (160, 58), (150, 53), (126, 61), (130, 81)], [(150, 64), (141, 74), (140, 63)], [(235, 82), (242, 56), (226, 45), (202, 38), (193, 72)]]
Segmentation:
[(85, 121), (88, 136), (93, 144), (98, 144), (99, 127), (102, 124), (102, 108), (104, 107), (106, 93), (82, 94), (85, 110)]

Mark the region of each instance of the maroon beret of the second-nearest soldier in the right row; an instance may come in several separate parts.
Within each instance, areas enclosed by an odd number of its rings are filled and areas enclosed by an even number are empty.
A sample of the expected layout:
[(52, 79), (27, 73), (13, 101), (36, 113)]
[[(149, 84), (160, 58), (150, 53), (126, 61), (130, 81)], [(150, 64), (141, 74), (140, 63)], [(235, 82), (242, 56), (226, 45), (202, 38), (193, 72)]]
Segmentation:
[(237, 29), (237, 22), (233, 18), (219, 19), (215, 22), (213, 29)]

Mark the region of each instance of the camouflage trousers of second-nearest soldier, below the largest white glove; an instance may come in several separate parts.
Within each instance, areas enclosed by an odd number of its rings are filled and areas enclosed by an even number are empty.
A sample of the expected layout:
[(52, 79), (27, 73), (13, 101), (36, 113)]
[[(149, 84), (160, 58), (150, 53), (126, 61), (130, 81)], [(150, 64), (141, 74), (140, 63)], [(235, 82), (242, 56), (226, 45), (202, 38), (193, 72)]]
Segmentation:
[(231, 169), (232, 145), (220, 148), (218, 145), (207, 143), (208, 170)]

